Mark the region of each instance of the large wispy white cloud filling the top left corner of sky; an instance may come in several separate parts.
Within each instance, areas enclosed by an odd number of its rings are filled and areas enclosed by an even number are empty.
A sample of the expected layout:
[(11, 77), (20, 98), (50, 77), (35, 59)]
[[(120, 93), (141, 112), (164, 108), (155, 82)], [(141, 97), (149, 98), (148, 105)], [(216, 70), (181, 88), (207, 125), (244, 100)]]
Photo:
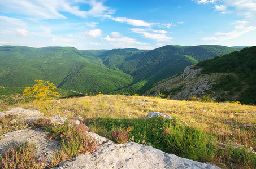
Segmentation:
[[(90, 6), (88, 11), (80, 10), (80, 3)], [(1, 12), (27, 15), (37, 19), (66, 19), (60, 12), (68, 12), (79, 17), (109, 17), (114, 11), (96, 0), (8, 0), (0, 1)]]

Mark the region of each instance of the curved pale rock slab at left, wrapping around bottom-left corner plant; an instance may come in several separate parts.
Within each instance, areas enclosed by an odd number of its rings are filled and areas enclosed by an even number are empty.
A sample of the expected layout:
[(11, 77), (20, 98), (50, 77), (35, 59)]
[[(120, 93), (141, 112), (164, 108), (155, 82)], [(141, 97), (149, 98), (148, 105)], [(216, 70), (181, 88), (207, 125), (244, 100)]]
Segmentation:
[(36, 155), (39, 159), (45, 158), (47, 162), (53, 156), (55, 149), (60, 148), (61, 143), (55, 140), (47, 139), (47, 133), (43, 130), (33, 130), (26, 128), (7, 132), (0, 136), (0, 153), (4, 153), (10, 146), (15, 143), (23, 143), (24, 141), (33, 142), (37, 145)]

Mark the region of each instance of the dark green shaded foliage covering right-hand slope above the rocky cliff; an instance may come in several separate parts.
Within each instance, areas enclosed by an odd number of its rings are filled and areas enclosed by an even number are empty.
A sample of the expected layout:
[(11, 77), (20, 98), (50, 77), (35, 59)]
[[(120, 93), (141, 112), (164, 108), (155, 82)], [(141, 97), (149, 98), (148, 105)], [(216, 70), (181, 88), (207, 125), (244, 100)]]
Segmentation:
[[(197, 64), (203, 68), (202, 73), (235, 73), (222, 78), (222, 82), (214, 87), (226, 91), (241, 90), (241, 83), (245, 82), (249, 87), (241, 92), (240, 101), (244, 104), (256, 104), (256, 46), (246, 47), (241, 51), (235, 51), (224, 56), (216, 56), (214, 59), (201, 61)], [(246, 85), (243, 85), (244, 87)], [(232, 94), (232, 92), (231, 92)]]

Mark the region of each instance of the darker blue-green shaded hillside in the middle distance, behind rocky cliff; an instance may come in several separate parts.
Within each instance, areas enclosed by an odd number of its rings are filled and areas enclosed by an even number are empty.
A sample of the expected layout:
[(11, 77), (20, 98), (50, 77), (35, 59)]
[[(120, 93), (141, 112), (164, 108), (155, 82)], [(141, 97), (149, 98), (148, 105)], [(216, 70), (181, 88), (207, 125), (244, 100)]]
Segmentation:
[(127, 50), (115, 51), (116, 53), (119, 52), (120, 55), (125, 53), (125, 58), (122, 58), (123, 63), (119, 64), (116, 62), (113, 64), (111, 59), (116, 57), (116, 55), (111, 55), (111, 57), (108, 57), (109, 60), (103, 63), (115, 66), (118, 70), (130, 74), (134, 78), (132, 84), (112, 93), (130, 92), (134, 94), (134, 92), (138, 92), (142, 94), (150, 88), (151, 84), (183, 72), (186, 66), (197, 64), (198, 61), (209, 59), (216, 55), (224, 55), (237, 50), (236, 48), (219, 45), (167, 45), (150, 51), (133, 51), (133, 54), (132, 52), (127, 52)]

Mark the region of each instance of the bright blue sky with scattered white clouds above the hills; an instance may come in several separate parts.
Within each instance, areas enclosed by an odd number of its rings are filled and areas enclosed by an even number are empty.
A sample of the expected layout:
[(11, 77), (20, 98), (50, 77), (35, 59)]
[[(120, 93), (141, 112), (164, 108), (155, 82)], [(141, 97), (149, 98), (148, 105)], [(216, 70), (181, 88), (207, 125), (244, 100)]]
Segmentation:
[(256, 0), (0, 0), (0, 45), (256, 46)]

